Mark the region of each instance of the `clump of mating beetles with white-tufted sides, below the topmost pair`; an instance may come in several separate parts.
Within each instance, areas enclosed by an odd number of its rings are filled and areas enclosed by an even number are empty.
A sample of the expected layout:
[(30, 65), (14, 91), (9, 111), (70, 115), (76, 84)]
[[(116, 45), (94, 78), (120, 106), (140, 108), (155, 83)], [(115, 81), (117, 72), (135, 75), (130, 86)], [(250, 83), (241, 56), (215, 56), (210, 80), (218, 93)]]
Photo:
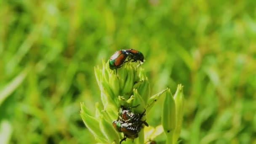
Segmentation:
[[(139, 105), (135, 106), (138, 107)], [(115, 129), (120, 132), (124, 133), (124, 138), (120, 141), (125, 141), (126, 138), (135, 139), (139, 135), (138, 133), (141, 131), (142, 124), (148, 126), (146, 120), (142, 121), (141, 118), (145, 115), (146, 110), (142, 114), (133, 113), (130, 109), (134, 107), (125, 108), (121, 106), (118, 111), (118, 118), (117, 120), (113, 121), (112, 125)]]

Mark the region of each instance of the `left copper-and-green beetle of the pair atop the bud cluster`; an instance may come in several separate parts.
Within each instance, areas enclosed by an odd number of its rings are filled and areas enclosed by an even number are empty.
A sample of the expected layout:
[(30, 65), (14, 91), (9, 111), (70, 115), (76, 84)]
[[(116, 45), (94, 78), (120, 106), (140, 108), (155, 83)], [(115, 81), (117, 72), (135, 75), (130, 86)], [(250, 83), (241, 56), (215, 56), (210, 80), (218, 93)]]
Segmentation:
[(126, 50), (116, 51), (109, 59), (109, 68), (115, 69), (115, 72), (117, 74), (117, 68), (122, 67), (127, 57), (128, 54)]

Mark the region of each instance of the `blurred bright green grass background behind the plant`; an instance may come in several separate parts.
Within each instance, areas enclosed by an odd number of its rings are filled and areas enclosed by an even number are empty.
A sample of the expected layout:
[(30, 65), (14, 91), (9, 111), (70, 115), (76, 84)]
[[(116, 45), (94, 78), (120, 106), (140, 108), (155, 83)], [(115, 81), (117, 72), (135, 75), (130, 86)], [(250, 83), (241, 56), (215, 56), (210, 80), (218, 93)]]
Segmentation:
[(80, 102), (122, 48), (144, 53), (152, 94), (184, 85), (182, 143), (256, 143), (255, 0), (0, 0), (0, 18), (2, 143), (95, 143)]

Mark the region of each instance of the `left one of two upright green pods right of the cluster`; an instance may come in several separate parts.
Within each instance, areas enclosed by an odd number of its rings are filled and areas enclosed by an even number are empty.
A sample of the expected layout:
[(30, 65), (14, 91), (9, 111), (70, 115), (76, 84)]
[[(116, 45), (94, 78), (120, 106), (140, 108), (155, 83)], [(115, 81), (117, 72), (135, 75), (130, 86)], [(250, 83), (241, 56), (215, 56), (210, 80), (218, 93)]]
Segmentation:
[(172, 144), (173, 133), (176, 127), (176, 108), (169, 88), (165, 92), (165, 100), (163, 102), (162, 125), (166, 135), (166, 144)]

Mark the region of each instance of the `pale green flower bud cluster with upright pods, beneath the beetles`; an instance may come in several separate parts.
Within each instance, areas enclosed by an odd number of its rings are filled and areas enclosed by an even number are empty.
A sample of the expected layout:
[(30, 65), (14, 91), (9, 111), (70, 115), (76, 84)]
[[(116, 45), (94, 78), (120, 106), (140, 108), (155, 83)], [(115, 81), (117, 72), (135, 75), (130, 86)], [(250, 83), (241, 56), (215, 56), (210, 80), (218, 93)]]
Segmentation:
[[(163, 110), (163, 115), (165, 115), (162, 117), (163, 131), (166, 133), (166, 131), (171, 128), (170, 130), (173, 133), (173, 138), (171, 141), (174, 141), (174, 139), (177, 141), (181, 130), (183, 116), (184, 99), (182, 86), (180, 85), (181, 90), (179, 90), (179, 94), (175, 95), (175, 98), (172, 96), (170, 98), (170, 90), (168, 88), (153, 96), (150, 96), (149, 81), (142, 67), (134, 65), (134, 63), (125, 63), (121, 68), (117, 69), (116, 74), (115, 70), (109, 69), (109, 62), (106, 63), (102, 61), (102, 63), (102, 68), (95, 67), (94, 70), (96, 80), (101, 91), (101, 102), (103, 109), (100, 108), (99, 103), (96, 103), (95, 115), (91, 115), (93, 112), (91, 112), (83, 103), (81, 103), (81, 117), (88, 130), (95, 136), (96, 141), (99, 143), (118, 144), (120, 139), (123, 139), (123, 135), (115, 130), (112, 125), (112, 121), (117, 119), (120, 106), (134, 107), (139, 105), (132, 110), (134, 113), (142, 113), (146, 109), (146, 115), (142, 117), (143, 120), (146, 120), (147, 112), (149, 112), (149, 110), (153, 107), (160, 96), (165, 93), (165, 91), (166, 96), (163, 107), (164, 109), (167, 109)], [(173, 101), (171, 102), (172, 105), (170, 105), (171, 107), (166, 107), (166, 105), (170, 103), (169, 101)], [(176, 101), (179, 104), (175, 105)], [(171, 122), (168, 120), (171, 120)], [(152, 127), (150, 128), (154, 129)], [(160, 133), (157, 133), (157, 135), (159, 134)], [(143, 128), (139, 132), (139, 137), (134, 139), (133, 144), (147, 142), (148, 140), (146, 140), (144, 137), (147, 135), (147, 131)], [(167, 137), (168, 136), (169, 135), (167, 135)], [(123, 141), (124, 144), (131, 142), (132, 140), (130, 139)]]

